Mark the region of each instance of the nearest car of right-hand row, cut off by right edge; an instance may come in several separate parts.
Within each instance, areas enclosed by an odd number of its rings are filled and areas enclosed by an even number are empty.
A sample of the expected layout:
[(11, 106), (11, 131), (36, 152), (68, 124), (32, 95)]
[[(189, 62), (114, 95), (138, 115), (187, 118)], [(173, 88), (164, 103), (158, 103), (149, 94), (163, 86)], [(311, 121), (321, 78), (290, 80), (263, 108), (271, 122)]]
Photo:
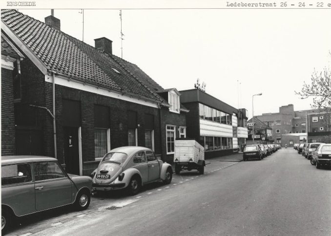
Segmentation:
[(316, 168), (321, 169), (322, 166), (331, 166), (331, 144), (322, 143), (315, 151), (313, 151), (310, 163), (316, 163)]

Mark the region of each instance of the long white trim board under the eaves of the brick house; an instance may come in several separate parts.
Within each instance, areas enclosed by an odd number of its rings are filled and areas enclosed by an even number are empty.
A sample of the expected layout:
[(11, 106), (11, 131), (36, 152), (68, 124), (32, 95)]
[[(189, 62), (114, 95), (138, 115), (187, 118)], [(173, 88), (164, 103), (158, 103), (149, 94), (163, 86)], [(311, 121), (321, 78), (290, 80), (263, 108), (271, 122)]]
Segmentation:
[[(49, 82), (49, 83), (53, 83), (53, 79), (50, 76), (45, 75), (45, 81)], [(141, 104), (144, 106), (149, 106), (149, 107), (153, 107), (153, 108), (159, 108), (158, 103), (157, 102), (151, 102), (149, 100), (145, 100), (143, 98), (134, 98), (133, 96), (129, 96), (126, 94), (122, 94), (120, 92), (117, 91), (109, 91), (103, 88), (98, 88), (89, 84), (83, 84), (83, 83), (79, 83), (73, 80), (68, 80), (68, 79), (64, 79), (62, 77), (59, 76), (55, 76), (55, 84), (58, 85), (62, 85), (65, 87), (69, 87), (69, 88), (74, 88), (74, 89), (79, 89), (82, 91), (86, 91), (86, 92), (90, 92), (90, 93), (94, 93), (94, 94), (98, 94), (98, 95), (102, 95), (108, 98), (116, 98), (116, 99), (121, 99), (124, 101), (128, 101), (128, 102), (133, 102), (133, 103), (137, 103), (137, 104)]]

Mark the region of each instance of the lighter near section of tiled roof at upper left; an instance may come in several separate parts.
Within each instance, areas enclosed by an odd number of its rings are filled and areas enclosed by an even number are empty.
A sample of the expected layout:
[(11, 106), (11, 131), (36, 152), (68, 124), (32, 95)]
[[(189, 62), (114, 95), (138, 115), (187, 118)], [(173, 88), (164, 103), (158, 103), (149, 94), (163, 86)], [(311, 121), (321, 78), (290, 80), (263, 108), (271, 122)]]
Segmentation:
[(121, 90), (118, 84), (61, 31), (12, 9), (2, 9), (1, 20), (51, 71), (109, 89)]

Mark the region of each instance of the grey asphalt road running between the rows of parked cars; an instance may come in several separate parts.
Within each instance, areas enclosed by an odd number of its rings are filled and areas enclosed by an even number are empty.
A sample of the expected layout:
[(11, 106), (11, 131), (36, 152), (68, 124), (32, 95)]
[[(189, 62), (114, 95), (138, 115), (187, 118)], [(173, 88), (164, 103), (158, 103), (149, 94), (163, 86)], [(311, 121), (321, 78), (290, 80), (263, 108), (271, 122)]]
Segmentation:
[(317, 170), (295, 150), (212, 161), (206, 172), (182, 172), (134, 197), (96, 195), (87, 211), (39, 214), (10, 235), (331, 235), (331, 170)]

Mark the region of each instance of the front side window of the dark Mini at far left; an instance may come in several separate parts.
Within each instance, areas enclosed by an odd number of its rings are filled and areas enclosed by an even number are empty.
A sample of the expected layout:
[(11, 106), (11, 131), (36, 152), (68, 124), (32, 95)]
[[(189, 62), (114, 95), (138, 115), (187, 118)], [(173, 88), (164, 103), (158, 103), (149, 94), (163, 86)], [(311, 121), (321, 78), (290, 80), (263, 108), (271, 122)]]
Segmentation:
[(33, 164), (36, 181), (66, 177), (59, 164), (54, 161)]

